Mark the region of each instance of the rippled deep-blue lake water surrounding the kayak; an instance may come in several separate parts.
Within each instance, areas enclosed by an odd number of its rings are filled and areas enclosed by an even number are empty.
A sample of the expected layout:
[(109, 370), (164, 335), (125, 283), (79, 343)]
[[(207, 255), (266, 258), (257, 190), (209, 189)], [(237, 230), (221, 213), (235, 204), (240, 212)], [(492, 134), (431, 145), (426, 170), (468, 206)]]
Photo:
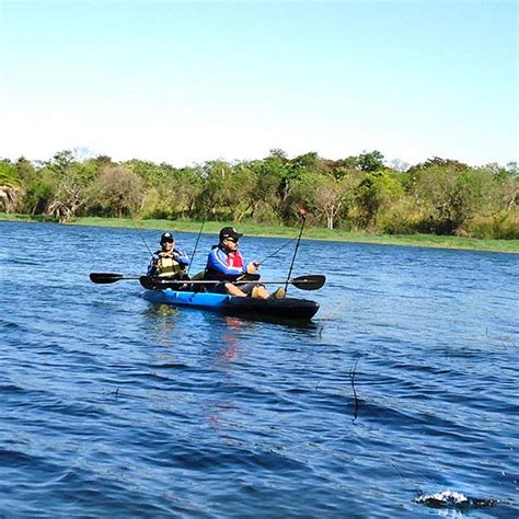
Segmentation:
[[(1, 517), (519, 517), (519, 256), (303, 241), (296, 327), (89, 281), (159, 237), (0, 222)], [(498, 503), (415, 503), (446, 489)]]

